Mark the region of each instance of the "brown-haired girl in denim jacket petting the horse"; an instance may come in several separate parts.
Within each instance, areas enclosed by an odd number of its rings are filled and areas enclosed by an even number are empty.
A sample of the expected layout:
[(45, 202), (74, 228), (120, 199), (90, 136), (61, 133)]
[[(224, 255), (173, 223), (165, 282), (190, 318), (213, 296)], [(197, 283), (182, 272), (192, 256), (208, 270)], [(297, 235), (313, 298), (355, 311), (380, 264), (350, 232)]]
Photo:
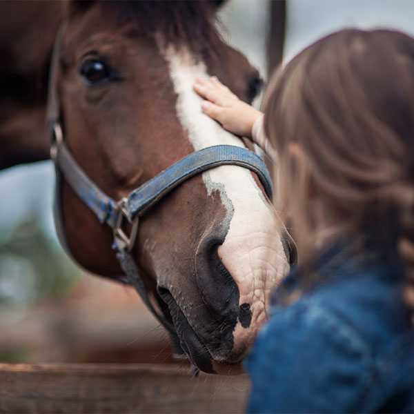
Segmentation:
[(274, 150), (260, 112), (215, 78), (194, 88), (277, 157), (299, 248), (245, 362), (248, 411), (414, 412), (414, 39), (343, 30), (306, 48), (266, 93)]

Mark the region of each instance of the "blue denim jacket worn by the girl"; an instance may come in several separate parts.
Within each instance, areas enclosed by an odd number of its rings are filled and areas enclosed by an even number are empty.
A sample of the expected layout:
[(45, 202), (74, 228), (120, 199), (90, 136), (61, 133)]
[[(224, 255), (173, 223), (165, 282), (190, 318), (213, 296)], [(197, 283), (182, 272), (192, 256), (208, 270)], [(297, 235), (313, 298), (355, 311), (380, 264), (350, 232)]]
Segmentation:
[[(404, 265), (375, 254), (355, 258), (341, 246), (317, 260), (319, 282), (297, 302), (280, 305), (274, 295), (245, 360), (248, 413), (414, 413)], [(297, 287), (295, 275), (284, 288)]]

